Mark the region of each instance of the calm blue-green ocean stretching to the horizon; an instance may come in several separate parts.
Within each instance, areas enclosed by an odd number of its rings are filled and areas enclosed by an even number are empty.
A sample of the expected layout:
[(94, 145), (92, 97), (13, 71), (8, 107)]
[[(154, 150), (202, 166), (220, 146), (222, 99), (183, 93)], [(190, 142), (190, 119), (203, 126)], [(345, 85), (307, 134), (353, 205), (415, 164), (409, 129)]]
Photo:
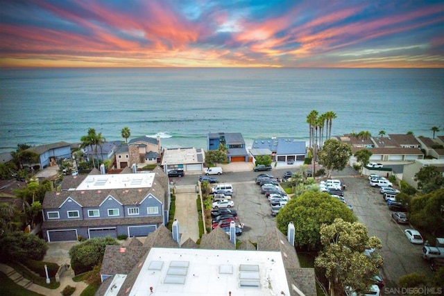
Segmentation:
[(332, 135), (432, 137), (444, 130), (444, 69), (1, 69), (0, 152), (17, 143), (162, 137), (207, 148), (209, 132), (307, 141), (307, 115), (333, 111)]

